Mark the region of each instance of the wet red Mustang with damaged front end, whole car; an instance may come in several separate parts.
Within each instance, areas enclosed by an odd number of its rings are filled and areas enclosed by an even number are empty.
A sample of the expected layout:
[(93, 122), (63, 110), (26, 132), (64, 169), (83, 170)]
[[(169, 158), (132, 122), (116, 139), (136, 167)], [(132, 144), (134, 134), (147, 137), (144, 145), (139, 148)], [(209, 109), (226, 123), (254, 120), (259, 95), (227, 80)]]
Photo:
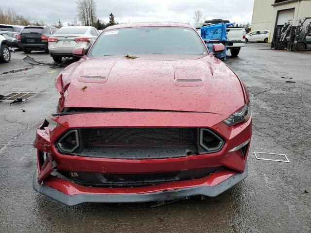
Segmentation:
[(252, 116), (239, 77), (187, 24), (107, 28), (56, 78), (36, 132), (36, 191), (67, 205), (214, 197), (247, 176)]

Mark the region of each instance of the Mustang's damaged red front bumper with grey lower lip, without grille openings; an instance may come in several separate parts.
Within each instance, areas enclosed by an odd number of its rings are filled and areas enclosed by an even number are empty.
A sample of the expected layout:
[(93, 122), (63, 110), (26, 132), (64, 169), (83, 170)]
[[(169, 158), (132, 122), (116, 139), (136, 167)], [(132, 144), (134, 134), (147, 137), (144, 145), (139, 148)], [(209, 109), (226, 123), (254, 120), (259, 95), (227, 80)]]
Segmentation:
[[(236, 127), (228, 127), (219, 116), (211, 114), (158, 113), (94, 113), (57, 116), (51, 130), (45, 121), (37, 129), (34, 146), (37, 149), (37, 171), (34, 189), (67, 205), (83, 202), (148, 202), (169, 201), (190, 196), (215, 197), (247, 176), (245, 150), (230, 152), (233, 148), (249, 142), (252, 134), (251, 119)], [(118, 116), (118, 121), (116, 121)], [(191, 119), (191, 120), (190, 120)], [(221, 123), (218, 123), (221, 122)], [(209, 127), (207, 127), (208, 125)], [(185, 154), (180, 157), (155, 159), (132, 159), (92, 157), (83, 154), (63, 154), (55, 146), (59, 138), (72, 129), (105, 127), (197, 127), (209, 128), (225, 140), (221, 150), (213, 153)], [(43, 156), (44, 155), (44, 156)], [(44, 157), (42, 159), (42, 156)], [(221, 167), (218, 169), (218, 167)], [(198, 178), (173, 182), (153, 183), (141, 186), (96, 186), (77, 183), (70, 174), (83, 172), (98, 174), (157, 174), (191, 169), (215, 168)], [(217, 169), (216, 169), (217, 168)], [(56, 175), (55, 175), (56, 174)], [(65, 175), (65, 176), (64, 176)], [(96, 183), (94, 183), (96, 184)]]

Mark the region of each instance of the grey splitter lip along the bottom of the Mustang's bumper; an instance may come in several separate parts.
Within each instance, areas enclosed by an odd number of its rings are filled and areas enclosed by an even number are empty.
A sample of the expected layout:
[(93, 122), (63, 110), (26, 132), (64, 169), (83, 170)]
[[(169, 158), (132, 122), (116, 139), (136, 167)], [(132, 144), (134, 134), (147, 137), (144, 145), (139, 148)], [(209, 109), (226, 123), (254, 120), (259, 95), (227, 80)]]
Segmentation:
[(33, 187), (37, 192), (69, 206), (77, 205), (83, 202), (120, 203), (120, 202), (169, 201), (197, 195), (216, 197), (219, 194), (225, 192), (227, 189), (234, 186), (235, 184), (241, 182), (243, 179), (245, 179), (247, 173), (248, 168), (246, 164), (243, 173), (236, 173), (215, 186), (200, 185), (190, 188), (189, 187), (178, 188), (174, 190), (161, 190), (146, 193), (130, 193), (130, 192), (126, 194), (83, 193), (83, 194), (68, 195), (46, 185), (45, 183), (42, 184), (38, 183), (37, 182), (38, 173), (37, 171), (35, 171), (33, 178)]

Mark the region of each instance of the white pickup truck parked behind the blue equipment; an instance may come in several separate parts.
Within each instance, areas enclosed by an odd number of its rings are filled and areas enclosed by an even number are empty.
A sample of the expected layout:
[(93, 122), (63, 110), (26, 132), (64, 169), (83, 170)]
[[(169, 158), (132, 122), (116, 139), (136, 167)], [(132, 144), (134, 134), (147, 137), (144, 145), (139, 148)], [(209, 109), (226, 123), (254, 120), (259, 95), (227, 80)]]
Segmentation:
[[(230, 23), (230, 21), (224, 19), (206, 20), (204, 21), (204, 23), (200, 23), (197, 26), (197, 29), (200, 29), (203, 26), (213, 25), (217, 23)], [(244, 28), (234, 26), (227, 27), (227, 37), (228, 37), (227, 50), (231, 51), (231, 56), (233, 57), (238, 56), (241, 47), (245, 46), (245, 36), (246, 31)]]

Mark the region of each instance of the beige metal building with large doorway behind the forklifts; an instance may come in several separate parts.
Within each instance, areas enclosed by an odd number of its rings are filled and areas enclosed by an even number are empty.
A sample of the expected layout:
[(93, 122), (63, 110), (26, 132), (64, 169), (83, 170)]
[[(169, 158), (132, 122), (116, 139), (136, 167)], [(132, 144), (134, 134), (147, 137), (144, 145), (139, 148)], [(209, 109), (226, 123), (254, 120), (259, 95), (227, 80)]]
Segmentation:
[(293, 19), (297, 26), (299, 19), (311, 16), (311, 0), (255, 0), (251, 31), (269, 30), (271, 42), (277, 25)]

